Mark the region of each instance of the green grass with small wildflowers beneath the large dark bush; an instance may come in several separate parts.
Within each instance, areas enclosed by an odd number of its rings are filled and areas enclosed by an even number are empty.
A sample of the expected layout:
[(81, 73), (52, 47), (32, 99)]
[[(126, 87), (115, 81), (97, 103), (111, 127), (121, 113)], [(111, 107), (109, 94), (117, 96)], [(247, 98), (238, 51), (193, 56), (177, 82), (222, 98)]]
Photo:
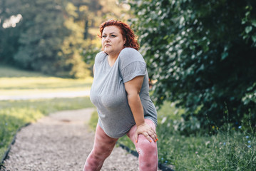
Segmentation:
[[(175, 110), (180, 112), (175, 114)], [(184, 136), (184, 130), (180, 129), (184, 128), (180, 125), (185, 123), (180, 118), (182, 113), (182, 109), (175, 109), (170, 103), (165, 103), (158, 110), (160, 162), (174, 165), (175, 170), (255, 170), (254, 128), (248, 131), (243, 125), (227, 123), (222, 128), (213, 127), (215, 135), (207, 135), (200, 130), (201, 133)], [(186, 128), (195, 129), (192, 123)], [(245, 124), (248, 125), (247, 122)]]

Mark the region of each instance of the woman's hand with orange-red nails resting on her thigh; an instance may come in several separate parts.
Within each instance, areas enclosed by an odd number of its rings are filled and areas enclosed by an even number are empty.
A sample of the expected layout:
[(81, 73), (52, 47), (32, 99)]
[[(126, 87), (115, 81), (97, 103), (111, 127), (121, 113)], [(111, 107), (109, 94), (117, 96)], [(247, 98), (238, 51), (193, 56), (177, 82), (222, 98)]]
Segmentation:
[(147, 123), (143, 123), (142, 125), (137, 126), (137, 130), (135, 133), (135, 141), (138, 142), (138, 135), (144, 135), (145, 138), (148, 139), (149, 142), (152, 142), (154, 140), (155, 142), (158, 140), (155, 130), (150, 127)]

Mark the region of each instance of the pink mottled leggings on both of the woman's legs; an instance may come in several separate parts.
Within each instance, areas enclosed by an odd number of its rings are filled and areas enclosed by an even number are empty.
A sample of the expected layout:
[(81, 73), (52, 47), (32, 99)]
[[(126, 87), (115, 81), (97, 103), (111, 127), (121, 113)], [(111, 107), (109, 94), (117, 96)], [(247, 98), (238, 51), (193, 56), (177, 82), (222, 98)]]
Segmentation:
[[(153, 129), (155, 124), (152, 120), (145, 119), (145, 123), (148, 123)], [(127, 133), (128, 138), (133, 141), (136, 150), (139, 154), (139, 169), (140, 171), (155, 171), (158, 169), (158, 148), (155, 141), (149, 142), (144, 135), (139, 135), (138, 142), (135, 142), (135, 130), (134, 125)], [(104, 160), (111, 154), (115, 147), (118, 138), (110, 138), (106, 133), (97, 125), (96, 135), (90, 155), (86, 159), (86, 163), (83, 167), (83, 171), (96, 171), (101, 170)]]

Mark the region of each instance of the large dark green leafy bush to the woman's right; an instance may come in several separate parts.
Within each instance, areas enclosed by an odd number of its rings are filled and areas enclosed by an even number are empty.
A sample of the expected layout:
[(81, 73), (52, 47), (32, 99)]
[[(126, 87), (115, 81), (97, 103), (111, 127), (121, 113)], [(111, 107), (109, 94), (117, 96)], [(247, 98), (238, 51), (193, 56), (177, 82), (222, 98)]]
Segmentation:
[(240, 123), (249, 109), (256, 123), (250, 98), (256, 90), (256, 1), (131, 0), (130, 5), (150, 78), (157, 80), (158, 107), (164, 100), (177, 102), (185, 108), (184, 119), (196, 118), (200, 128), (225, 123), (226, 107), (231, 123)]

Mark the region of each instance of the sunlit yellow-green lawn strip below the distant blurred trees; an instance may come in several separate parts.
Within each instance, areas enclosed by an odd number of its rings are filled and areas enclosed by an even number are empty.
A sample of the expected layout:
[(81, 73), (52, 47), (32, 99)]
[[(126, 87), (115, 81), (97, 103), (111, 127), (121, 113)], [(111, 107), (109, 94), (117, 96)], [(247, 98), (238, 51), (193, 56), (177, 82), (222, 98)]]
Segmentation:
[(66, 91), (83, 91), (91, 88), (93, 78), (68, 79), (46, 76), (0, 66), (0, 95), (27, 95)]

